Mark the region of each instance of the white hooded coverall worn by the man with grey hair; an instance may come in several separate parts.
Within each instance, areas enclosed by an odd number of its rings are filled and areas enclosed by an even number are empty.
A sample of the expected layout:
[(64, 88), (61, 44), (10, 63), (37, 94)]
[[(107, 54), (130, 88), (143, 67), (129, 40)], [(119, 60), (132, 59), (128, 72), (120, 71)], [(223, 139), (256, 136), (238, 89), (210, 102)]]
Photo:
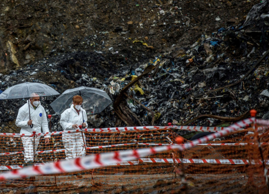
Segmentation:
[[(21, 127), (21, 134), (33, 134), (33, 131), (36, 131), (36, 133), (41, 133), (41, 127), (43, 129), (43, 133), (49, 132), (48, 128), (48, 119), (47, 114), (45, 112), (45, 109), (42, 105), (38, 105), (35, 109), (33, 108), (33, 105), (30, 103), (30, 115), (31, 120), (33, 121), (33, 128), (30, 127), (30, 125), (27, 124), (27, 122), (30, 120), (29, 118), (29, 107), (28, 107), (28, 101), (25, 103), (18, 112), (17, 119), (16, 119), (16, 126)], [(50, 136), (45, 136), (45, 138), (50, 138)], [(24, 148), (24, 160), (25, 162), (33, 162), (33, 143), (35, 143), (35, 151), (38, 148), (39, 145), (39, 139), (40, 136), (35, 137), (35, 142), (33, 137), (21, 137), (22, 144)]]

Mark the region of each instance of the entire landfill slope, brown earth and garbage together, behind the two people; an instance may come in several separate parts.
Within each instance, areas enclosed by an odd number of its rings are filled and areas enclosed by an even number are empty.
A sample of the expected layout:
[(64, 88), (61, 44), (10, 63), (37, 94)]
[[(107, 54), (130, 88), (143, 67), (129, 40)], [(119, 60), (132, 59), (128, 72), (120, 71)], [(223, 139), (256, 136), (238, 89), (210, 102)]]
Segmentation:
[[(90, 128), (230, 125), (269, 119), (268, 1), (4, 0), (0, 89), (87, 86), (113, 103)], [(52, 131), (61, 131), (52, 114)], [(0, 129), (18, 133), (26, 99), (0, 101)]]

